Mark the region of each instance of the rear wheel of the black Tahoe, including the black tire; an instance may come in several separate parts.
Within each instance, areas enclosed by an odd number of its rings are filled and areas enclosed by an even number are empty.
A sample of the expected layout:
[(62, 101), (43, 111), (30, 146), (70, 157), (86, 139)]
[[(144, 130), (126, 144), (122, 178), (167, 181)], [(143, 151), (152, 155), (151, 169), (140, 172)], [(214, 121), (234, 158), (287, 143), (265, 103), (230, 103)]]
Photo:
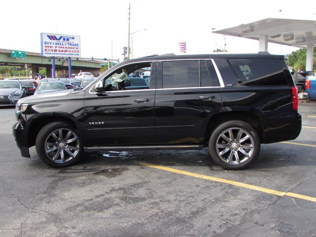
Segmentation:
[(243, 169), (259, 156), (260, 138), (248, 123), (231, 120), (214, 129), (208, 147), (216, 164), (225, 169)]

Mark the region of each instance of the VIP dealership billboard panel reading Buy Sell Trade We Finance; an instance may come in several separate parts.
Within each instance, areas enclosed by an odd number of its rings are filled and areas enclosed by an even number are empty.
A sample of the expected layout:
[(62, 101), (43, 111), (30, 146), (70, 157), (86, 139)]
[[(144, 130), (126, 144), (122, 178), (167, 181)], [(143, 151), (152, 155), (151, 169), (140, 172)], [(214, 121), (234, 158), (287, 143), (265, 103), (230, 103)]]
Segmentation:
[(40, 33), (41, 56), (80, 57), (80, 37)]

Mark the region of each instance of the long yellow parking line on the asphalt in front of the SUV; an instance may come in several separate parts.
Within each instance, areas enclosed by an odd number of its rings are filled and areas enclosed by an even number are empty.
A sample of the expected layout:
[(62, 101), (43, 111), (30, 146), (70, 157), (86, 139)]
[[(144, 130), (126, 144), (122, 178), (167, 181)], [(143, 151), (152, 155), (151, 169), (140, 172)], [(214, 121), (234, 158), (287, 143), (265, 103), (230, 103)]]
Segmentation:
[(276, 195), (276, 196), (295, 197), (295, 198), (299, 198), (299, 199), (303, 199), (303, 200), (316, 202), (316, 197), (309, 197), (309, 196), (290, 193), (290, 192), (280, 192), (280, 191), (276, 191), (273, 189), (266, 189), (266, 188), (251, 185), (251, 184), (240, 183), (240, 182), (233, 181), (233, 180), (222, 179), (222, 178), (207, 176), (207, 175), (203, 175), (203, 174), (196, 174), (196, 173), (192, 173), (192, 172), (188, 172), (188, 171), (183, 171), (180, 169), (168, 168), (168, 167), (164, 167), (164, 166), (160, 166), (160, 165), (156, 165), (156, 164), (150, 164), (150, 163), (146, 163), (146, 162), (142, 162), (140, 164), (144, 165), (144, 166), (156, 168), (156, 169), (161, 169), (161, 170), (173, 172), (173, 173), (183, 174), (183, 175), (192, 176), (192, 177), (196, 177), (196, 178), (200, 178), (200, 179), (211, 180), (211, 181), (224, 183), (224, 184), (230, 184), (230, 185), (238, 186), (241, 188), (256, 190), (256, 191), (260, 191), (263, 193), (272, 194), (272, 195)]

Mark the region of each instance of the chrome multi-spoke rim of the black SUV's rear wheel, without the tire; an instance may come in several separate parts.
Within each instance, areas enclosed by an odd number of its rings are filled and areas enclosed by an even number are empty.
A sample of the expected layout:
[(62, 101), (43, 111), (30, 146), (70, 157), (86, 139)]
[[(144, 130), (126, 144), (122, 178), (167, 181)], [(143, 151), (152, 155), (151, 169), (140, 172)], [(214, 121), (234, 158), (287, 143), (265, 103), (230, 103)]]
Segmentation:
[(223, 131), (216, 141), (217, 155), (226, 163), (237, 165), (248, 160), (254, 151), (254, 140), (245, 130), (232, 127)]

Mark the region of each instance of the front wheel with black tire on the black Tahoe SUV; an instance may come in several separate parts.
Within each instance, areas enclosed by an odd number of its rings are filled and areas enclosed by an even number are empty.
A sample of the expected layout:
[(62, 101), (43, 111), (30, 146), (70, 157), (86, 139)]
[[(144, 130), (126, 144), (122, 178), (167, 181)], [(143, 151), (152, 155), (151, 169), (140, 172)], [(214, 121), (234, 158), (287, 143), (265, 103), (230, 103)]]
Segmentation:
[(83, 150), (78, 134), (70, 123), (48, 123), (40, 129), (36, 138), (36, 151), (39, 157), (52, 167), (73, 165), (79, 161)]

